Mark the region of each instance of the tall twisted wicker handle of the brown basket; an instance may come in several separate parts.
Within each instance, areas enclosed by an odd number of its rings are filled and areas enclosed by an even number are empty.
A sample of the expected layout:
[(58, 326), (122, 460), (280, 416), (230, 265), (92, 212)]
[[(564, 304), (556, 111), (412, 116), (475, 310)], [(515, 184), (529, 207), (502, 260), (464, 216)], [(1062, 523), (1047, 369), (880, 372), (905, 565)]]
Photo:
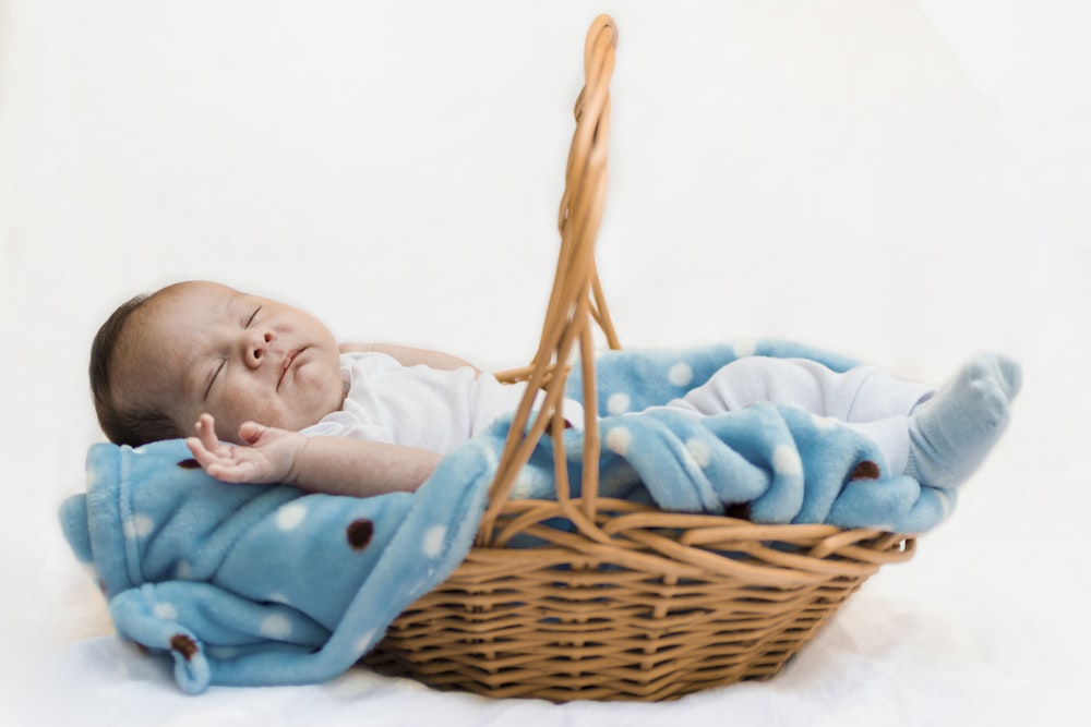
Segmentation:
[[(590, 324), (592, 319), (598, 324), (610, 348), (620, 348), (595, 265), (595, 239), (607, 192), (610, 77), (616, 46), (618, 28), (613, 20), (609, 15), (599, 15), (591, 23), (584, 46), (585, 84), (576, 98), (576, 130), (568, 150), (564, 194), (558, 215), (561, 250), (553, 290), (533, 362), (513, 376), (529, 385), (516, 410), (489, 489), (489, 507), (478, 529), (480, 546), (490, 544), (496, 518), (511, 495), (515, 480), (547, 431), (555, 452), (558, 501), (588, 537), (600, 542), (610, 540), (596, 524), (600, 443)], [(579, 348), (584, 377), (584, 472), (580, 497), (575, 500), (571, 497), (567, 480), (563, 438), (565, 422), (561, 413), (574, 346)], [(544, 401), (528, 428), (539, 389), (546, 391)]]

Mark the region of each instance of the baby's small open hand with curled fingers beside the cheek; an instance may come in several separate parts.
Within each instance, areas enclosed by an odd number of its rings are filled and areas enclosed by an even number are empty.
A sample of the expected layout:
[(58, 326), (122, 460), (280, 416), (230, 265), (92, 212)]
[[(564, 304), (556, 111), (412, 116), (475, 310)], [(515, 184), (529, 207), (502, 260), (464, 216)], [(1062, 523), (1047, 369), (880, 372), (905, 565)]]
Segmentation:
[(239, 437), (245, 445), (231, 445), (216, 437), (216, 423), (211, 414), (201, 414), (197, 436), (188, 437), (185, 446), (205, 472), (220, 482), (251, 484), (290, 483), (292, 469), (307, 437), (298, 432), (245, 422)]

